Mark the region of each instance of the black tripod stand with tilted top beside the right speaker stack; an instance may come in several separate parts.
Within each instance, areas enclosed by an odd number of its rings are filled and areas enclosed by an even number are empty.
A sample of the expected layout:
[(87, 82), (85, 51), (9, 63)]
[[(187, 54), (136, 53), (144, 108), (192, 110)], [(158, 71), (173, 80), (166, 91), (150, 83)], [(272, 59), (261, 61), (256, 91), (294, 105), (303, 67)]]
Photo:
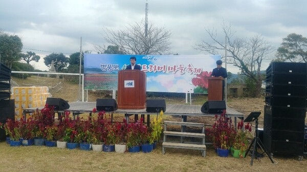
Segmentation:
[[(274, 164), (274, 161), (273, 159), (271, 158), (270, 154), (268, 153), (266, 147), (264, 146), (264, 144), (262, 144), (260, 138), (259, 138), (259, 132), (258, 132), (258, 117), (260, 116), (260, 113), (261, 112), (251, 112), (249, 114), (249, 116), (246, 118), (246, 120), (244, 120), (244, 122), (251, 122), (251, 121), (256, 121), (255, 122), (255, 136), (253, 138), (253, 141), (251, 142), (251, 145), (249, 146), (246, 154), (245, 154), (245, 157), (247, 155), (247, 153), (250, 151), (250, 149), (252, 148), (253, 146), (253, 153), (252, 153), (252, 158), (251, 158), (251, 165), (253, 165), (253, 160), (254, 160), (254, 156), (256, 155), (255, 152), (257, 153), (257, 145), (262, 149), (264, 150), (264, 152), (268, 155), (268, 157), (270, 158), (271, 162)], [(252, 116), (252, 117), (250, 117)], [(244, 157), (244, 158), (245, 158)]]

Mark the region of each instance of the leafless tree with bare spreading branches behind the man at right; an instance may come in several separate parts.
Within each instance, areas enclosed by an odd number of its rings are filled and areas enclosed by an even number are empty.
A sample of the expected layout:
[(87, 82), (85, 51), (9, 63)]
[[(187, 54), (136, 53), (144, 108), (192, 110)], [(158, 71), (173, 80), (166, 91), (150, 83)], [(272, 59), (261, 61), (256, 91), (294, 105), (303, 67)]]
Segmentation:
[(217, 39), (216, 31), (207, 28), (206, 32), (213, 43), (202, 41), (202, 43), (196, 44), (194, 49), (207, 51), (211, 54), (223, 54), (223, 50), (226, 49), (230, 54), (227, 55), (227, 63), (238, 67), (243, 75), (254, 82), (254, 96), (259, 97), (263, 79), (260, 73), (261, 63), (264, 60), (273, 59), (271, 56), (274, 51), (273, 47), (261, 35), (254, 35), (249, 39), (233, 38), (235, 33), (231, 31), (231, 25), (223, 23), (222, 29), (226, 36), (227, 48), (224, 41)]

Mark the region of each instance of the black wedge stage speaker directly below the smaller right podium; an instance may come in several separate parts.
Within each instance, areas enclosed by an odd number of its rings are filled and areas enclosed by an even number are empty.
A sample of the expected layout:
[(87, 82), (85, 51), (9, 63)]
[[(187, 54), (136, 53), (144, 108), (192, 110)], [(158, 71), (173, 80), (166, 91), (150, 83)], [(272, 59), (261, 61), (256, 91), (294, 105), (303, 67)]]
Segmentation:
[(203, 113), (222, 113), (225, 109), (226, 103), (224, 100), (210, 100), (203, 104), (201, 111)]

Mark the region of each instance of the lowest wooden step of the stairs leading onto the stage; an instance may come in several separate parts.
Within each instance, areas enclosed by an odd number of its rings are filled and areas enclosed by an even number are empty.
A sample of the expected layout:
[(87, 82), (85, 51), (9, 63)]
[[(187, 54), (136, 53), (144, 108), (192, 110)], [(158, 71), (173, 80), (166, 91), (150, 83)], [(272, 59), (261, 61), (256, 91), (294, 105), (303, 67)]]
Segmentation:
[(181, 144), (181, 143), (176, 143), (176, 142), (163, 142), (162, 143), (162, 154), (165, 154), (165, 151), (166, 151), (165, 148), (201, 150), (203, 157), (206, 156), (206, 145)]

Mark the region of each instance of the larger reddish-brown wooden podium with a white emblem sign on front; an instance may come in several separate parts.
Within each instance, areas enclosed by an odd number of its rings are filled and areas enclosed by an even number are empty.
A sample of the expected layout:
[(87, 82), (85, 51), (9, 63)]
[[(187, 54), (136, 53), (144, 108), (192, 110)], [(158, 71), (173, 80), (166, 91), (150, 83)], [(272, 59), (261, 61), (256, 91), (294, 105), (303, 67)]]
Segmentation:
[(145, 109), (146, 74), (140, 70), (118, 72), (118, 108)]

